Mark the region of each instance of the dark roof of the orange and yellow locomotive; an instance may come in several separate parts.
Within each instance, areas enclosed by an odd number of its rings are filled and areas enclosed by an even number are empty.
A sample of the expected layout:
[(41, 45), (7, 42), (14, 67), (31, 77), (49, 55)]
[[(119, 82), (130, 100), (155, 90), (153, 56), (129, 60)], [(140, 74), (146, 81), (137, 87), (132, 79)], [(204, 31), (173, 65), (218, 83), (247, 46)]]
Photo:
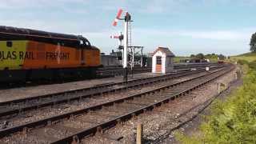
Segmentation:
[(0, 34), (4, 34), (5, 36), (2, 38), (9, 40), (31, 39), (38, 42), (49, 42), (53, 44), (58, 44), (58, 42), (62, 42), (67, 46), (74, 47), (77, 47), (82, 40), (84, 42), (88, 42), (90, 46), (90, 42), (86, 38), (74, 34), (59, 34), (42, 30), (31, 30), (11, 26), (0, 26)]

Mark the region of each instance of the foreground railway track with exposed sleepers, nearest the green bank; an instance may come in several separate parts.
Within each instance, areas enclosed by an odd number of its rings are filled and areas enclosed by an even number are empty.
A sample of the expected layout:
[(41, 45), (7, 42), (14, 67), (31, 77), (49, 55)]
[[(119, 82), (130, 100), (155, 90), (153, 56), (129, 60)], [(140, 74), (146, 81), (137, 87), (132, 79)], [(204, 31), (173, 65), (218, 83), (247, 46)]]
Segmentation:
[[(151, 90), (139, 94), (132, 94), (126, 98), (115, 99), (111, 102), (89, 106), (85, 109), (75, 110), (70, 113), (59, 114), (54, 117), (26, 123), (22, 126), (14, 126), (6, 130), (1, 130), (0, 135), (1, 137), (5, 137), (18, 131), (32, 129), (26, 133), (26, 136), (30, 135), (30, 138), (26, 138), (26, 142), (31, 142), (34, 138), (38, 138), (38, 140), (42, 139), (43, 142), (71, 142), (89, 134), (94, 134), (97, 130), (100, 130), (99, 127), (102, 129), (107, 128), (126, 118), (130, 118), (134, 114), (140, 114), (144, 110), (150, 110), (154, 106), (161, 105), (161, 102), (167, 102), (170, 98), (186, 94), (190, 90), (194, 90), (196, 87), (202, 86), (214, 80), (214, 78), (227, 73), (229, 70), (230, 68), (228, 70), (222, 68), (221, 70), (215, 70), (209, 74), (203, 74), (182, 82), (166, 82), (167, 86), (161, 86), (154, 90), (151, 88)], [(40, 126), (42, 128), (34, 129), (34, 127)], [(82, 129), (81, 126), (83, 127)], [(88, 129), (85, 127), (88, 127)], [(18, 138), (22, 136), (24, 135), (18, 134)], [(15, 141), (15, 137), (12, 140)]]

